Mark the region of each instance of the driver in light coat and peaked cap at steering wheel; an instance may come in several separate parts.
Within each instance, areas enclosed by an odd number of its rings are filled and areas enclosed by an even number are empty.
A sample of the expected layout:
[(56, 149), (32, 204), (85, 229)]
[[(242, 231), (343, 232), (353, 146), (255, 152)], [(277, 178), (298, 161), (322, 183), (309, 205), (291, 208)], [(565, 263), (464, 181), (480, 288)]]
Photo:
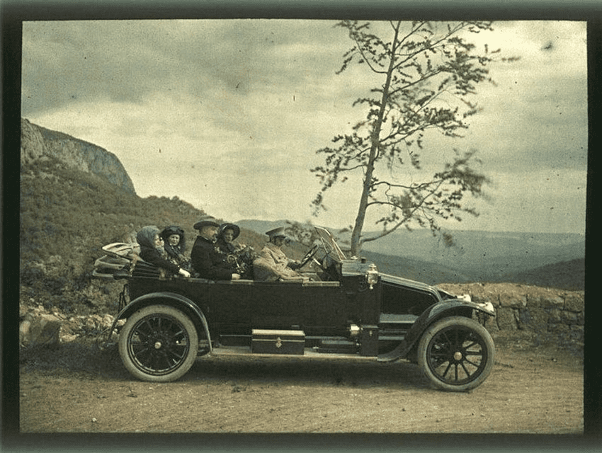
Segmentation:
[(296, 269), (301, 267), (301, 263), (288, 258), (281, 249), (286, 240), (284, 228), (272, 229), (266, 234), (270, 238), (269, 242), (259, 253), (259, 258), (253, 262), (255, 280), (276, 282), (277, 280), (303, 280), (307, 278), (296, 272)]

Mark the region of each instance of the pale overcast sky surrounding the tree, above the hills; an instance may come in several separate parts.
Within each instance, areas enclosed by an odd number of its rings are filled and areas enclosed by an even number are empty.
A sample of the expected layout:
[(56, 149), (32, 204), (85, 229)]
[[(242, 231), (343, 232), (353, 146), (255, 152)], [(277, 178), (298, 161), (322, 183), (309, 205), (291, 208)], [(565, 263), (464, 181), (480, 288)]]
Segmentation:
[[(327, 193), (329, 210), (312, 217), (319, 181), (309, 169), (362, 119), (351, 103), (374, 82), (362, 67), (335, 74), (351, 41), (334, 23), (25, 22), (21, 115), (118, 156), (142, 197), (178, 196), (230, 221), (347, 226), (359, 179)], [(497, 85), (479, 86), (482, 111), (464, 138), (429, 136), (421, 154), (435, 170), (451, 149), (477, 149), (493, 181), (489, 200), (474, 203), (478, 218), (444, 226), (584, 234), (586, 23), (494, 28), (475, 43), (521, 60), (490, 67)]]

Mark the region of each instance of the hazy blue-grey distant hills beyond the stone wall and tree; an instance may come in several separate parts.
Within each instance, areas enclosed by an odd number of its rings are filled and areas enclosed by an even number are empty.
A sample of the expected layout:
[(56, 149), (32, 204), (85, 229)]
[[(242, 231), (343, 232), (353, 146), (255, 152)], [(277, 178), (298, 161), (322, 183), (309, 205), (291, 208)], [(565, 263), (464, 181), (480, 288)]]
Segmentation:
[[(240, 226), (265, 234), (285, 220), (240, 220)], [(309, 226), (309, 225), (307, 225)], [(337, 233), (343, 250), (349, 232)], [(441, 282), (521, 282), (584, 288), (585, 237), (581, 234), (450, 230), (445, 247), (430, 230), (394, 231), (364, 244), (361, 255), (383, 273), (436, 285)], [(370, 233), (367, 233), (369, 235)], [(347, 241), (347, 244), (345, 243)]]

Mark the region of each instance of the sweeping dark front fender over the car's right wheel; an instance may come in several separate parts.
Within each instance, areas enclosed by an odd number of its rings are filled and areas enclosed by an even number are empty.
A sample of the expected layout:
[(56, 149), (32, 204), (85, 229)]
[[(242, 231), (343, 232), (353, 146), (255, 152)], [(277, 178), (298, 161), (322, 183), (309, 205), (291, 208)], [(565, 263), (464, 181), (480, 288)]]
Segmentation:
[(426, 331), (428, 326), (447, 316), (465, 316), (472, 317), (472, 310), (480, 311), (489, 316), (495, 316), (495, 310), (491, 302), (480, 304), (477, 302), (469, 302), (465, 299), (445, 300), (437, 302), (424, 310), (424, 312), (414, 321), (404, 340), (397, 345), (397, 348), (378, 356), (379, 362), (392, 362), (406, 357), (411, 348), (418, 343), (420, 337)]

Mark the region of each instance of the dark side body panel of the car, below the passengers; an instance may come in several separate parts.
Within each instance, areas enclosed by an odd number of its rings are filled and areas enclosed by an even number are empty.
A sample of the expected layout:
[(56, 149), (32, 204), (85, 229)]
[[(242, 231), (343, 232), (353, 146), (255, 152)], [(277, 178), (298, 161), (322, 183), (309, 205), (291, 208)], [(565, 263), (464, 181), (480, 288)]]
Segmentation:
[(251, 328), (300, 326), (316, 334), (331, 334), (346, 331), (348, 320), (360, 319), (363, 308), (340, 286), (179, 278), (130, 280), (132, 299), (161, 291), (191, 299), (207, 317), (210, 329), (220, 333), (249, 335)]

